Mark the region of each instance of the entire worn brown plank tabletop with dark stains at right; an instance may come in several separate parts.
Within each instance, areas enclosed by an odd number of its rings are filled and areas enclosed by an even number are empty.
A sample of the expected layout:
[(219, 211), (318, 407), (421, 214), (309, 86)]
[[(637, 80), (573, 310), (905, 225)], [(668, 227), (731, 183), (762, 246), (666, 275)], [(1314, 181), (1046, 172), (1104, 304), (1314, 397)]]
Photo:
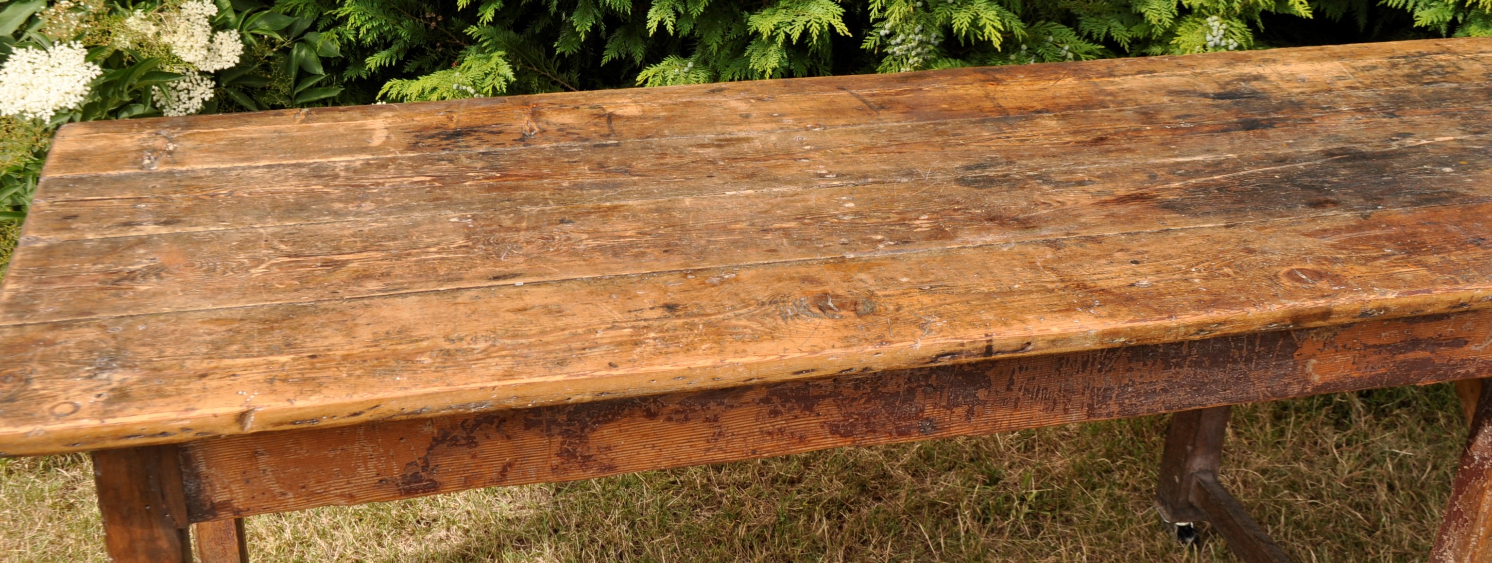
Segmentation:
[(69, 125), (0, 454), (1492, 305), (1492, 40)]

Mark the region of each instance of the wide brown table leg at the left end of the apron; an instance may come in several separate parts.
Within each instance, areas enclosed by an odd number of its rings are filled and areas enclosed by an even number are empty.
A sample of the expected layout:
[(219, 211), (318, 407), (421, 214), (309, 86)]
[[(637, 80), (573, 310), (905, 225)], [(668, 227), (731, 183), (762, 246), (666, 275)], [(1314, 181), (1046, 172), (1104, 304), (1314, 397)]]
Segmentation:
[(115, 563), (191, 563), (175, 445), (93, 453), (104, 545)]

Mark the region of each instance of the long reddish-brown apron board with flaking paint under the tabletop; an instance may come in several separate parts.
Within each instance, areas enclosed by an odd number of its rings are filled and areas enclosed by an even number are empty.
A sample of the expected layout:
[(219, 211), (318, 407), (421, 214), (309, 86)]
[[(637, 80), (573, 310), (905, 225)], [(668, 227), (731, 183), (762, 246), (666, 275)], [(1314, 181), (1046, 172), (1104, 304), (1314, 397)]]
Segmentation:
[(983, 435), (1486, 374), (1492, 311), (1373, 320), (185, 447), (194, 521)]

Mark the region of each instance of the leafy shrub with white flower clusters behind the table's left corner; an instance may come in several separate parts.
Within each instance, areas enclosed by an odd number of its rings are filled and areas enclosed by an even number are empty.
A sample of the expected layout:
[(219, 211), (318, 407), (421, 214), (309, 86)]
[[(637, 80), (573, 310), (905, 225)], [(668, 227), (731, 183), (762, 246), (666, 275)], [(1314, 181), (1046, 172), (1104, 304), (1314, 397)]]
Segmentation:
[(51, 131), (72, 121), (336, 103), (331, 36), (254, 0), (0, 3), (0, 219), (36, 191)]

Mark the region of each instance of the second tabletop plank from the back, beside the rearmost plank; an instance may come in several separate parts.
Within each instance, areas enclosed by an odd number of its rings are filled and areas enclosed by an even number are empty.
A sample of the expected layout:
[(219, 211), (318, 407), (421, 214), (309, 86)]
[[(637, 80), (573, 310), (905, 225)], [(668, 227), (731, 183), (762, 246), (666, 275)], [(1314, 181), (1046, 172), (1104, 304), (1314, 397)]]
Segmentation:
[[(1207, 94), (1222, 95), (1225, 89)], [(503, 155), (443, 152), (63, 177), (46, 183), (36, 210), (42, 217), (55, 217), (31, 237), (51, 241), (294, 225), (333, 220), (349, 211), (395, 217), (428, 213), (433, 206), (624, 203), (736, 194), (750, 185), (803, 189), (1052, 173), (1132, 164), (1138, 149), (1152, 147), (1167, 156), (1159, 162), (1255, 152), (1288, 158), (1325, 149), (1361, 150), (1385, 141), (1426, 141), (1447, 133), (1485, 134), (1486, 112), (1486, 91), (1480, 86), (1395, 86), (730, 139), (606, 141)], [(1420, 131), (1402, 131), (1405, 119), (1416, 121)], [(1083, 158), (1073, 153), (1074, 147), (1083, 150)], [(909, 153), (935, 158), (909, 161)], [(227, 210), (236, 214), (225, 216)]]

